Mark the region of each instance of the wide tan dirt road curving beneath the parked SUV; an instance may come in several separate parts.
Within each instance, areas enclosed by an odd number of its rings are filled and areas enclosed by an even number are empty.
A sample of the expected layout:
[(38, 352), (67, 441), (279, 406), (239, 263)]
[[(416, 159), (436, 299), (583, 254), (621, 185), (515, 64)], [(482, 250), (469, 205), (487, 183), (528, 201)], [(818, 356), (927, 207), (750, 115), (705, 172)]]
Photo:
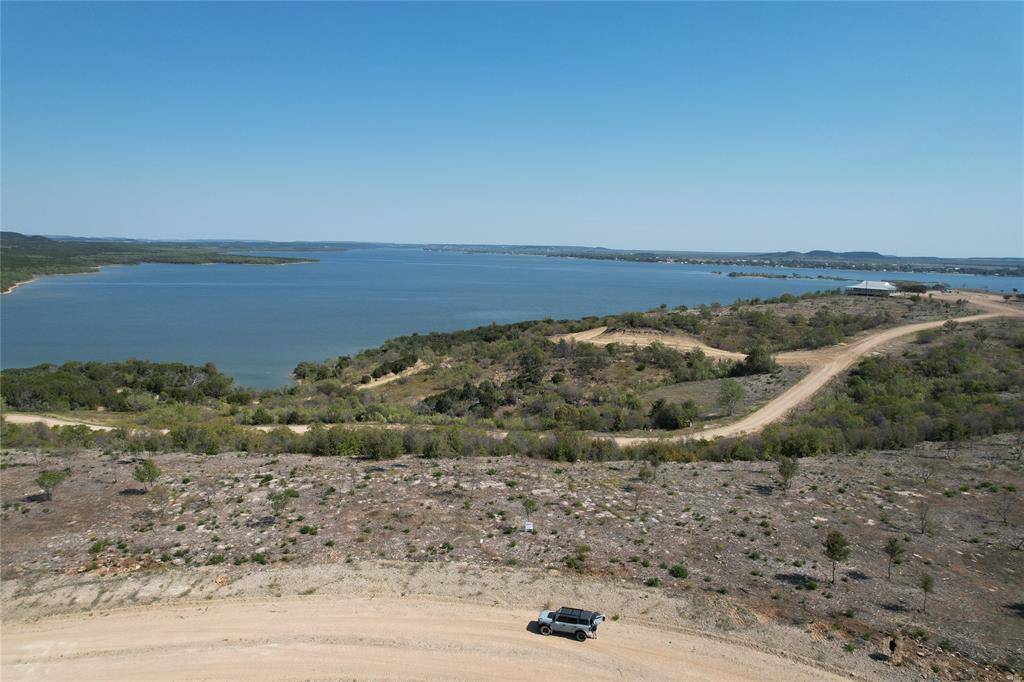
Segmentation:
[(740, 644), (606, 623), (579, 643), (530, 611), (429, 599), (210, 601), (31, 623), (2, 634), (5, 682), (181, 679), (839, 680)]

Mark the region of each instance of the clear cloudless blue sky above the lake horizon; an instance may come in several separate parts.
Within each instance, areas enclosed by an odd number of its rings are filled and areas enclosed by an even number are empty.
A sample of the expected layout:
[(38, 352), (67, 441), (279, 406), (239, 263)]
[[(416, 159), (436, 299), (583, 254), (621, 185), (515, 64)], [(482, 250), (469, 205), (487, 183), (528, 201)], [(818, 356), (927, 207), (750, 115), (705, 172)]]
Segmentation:
[(1022, 256), (1016, 3), (2, 4), (5, 229)]

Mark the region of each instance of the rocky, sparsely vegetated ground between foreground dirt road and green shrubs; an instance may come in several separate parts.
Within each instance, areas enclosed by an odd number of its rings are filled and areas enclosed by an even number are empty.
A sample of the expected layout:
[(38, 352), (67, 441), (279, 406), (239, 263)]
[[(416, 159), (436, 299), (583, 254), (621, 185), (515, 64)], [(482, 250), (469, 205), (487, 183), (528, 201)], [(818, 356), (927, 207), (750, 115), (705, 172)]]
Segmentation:
[[(1018, 442), (802, 460), (787, 491), (766, 462), (185, 453), (156, 456), (162, 475), (146, 491), (123, 456), (5, 452), (0, 576), (9, 605), (40, 581), (111, 574), (368, 560), (540, 568), (677, 603), (677, 625), (697, 613), (725, 632), (769, 620), (863, 657), (895, 634), (913, 652), (906, 665), (927, 675), (995, 676), (1024, 666)], [(36, 475), (62, 468), (70, 476), (46, 500)], [(835, 585), (821, 548), (829, 530), (851, 545)], [(889, 538), (905, 549), (892, 580)]]

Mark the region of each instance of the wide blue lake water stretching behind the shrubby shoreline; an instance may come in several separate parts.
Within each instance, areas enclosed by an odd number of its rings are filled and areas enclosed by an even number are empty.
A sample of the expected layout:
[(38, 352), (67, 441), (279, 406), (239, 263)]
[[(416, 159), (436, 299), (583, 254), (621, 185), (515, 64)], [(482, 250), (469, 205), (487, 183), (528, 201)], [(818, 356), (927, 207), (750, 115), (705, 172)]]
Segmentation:
[[(412, 332), (580, 317), (662, 303), (730, 303), (830, 289), (884, 273), (630, 263), (543, 256), (359, 249), (299, 265), (104, 267), (42, 278), (0, 298), (0, 364), (139, 357), (212, 361), (250, 386), (287, 384), (304, 359)], [(847, 282), (728, 278), (800, 272)], [(1022, 278), (898, 273), (954, 287), (1024, 290)]]

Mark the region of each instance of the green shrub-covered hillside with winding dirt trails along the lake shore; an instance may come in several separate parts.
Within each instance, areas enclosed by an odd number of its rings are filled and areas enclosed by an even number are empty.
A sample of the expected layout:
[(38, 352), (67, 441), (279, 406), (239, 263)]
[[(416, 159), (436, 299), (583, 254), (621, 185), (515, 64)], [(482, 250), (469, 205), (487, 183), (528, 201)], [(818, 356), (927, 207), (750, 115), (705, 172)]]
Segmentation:
[[(233, 386), (209, 365), (42, 365), (3, 373), (8, 410), (134, 431), (47, 433), (14, 423), (31, 415), (11, 415), (4, 437), (563, 460), (907, 446), (1022, 426), (1022, 316), (1020, 306), (971, 294), (666, 307), (399, 337), (301, 363), (296, 385), (270, 390)], [(864, 377), (878, 390), (865, 391)]]

